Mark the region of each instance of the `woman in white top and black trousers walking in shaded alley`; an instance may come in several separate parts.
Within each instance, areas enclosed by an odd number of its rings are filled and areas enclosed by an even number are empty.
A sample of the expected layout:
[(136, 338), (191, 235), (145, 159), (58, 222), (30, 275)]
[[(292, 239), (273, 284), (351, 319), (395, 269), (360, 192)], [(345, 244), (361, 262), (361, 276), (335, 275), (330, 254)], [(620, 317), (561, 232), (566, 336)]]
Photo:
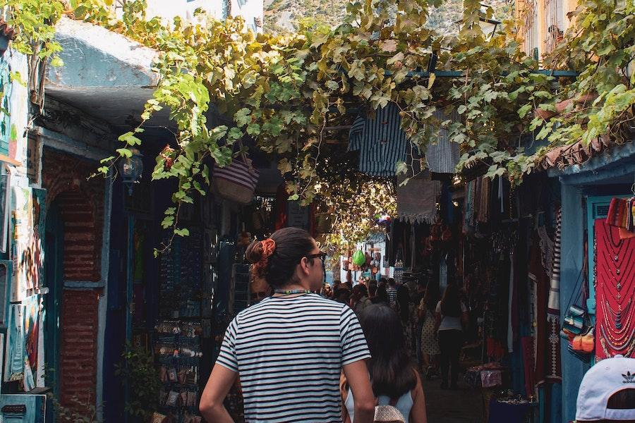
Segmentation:
[[(437, 303), (437, 321), (435, 328), (441, 350), (441, 388), (448, 388), (448, 376), (450, 388), (456, 389), (456, 381), (459, 379), (459, 355), (463, 346), (463, 326), (467, 324), (467, 307), (461, 302), (459, 287), (451, 283), (445, 288), (443, 298)], [(452, 367), (452, 372), (450, 372)]]

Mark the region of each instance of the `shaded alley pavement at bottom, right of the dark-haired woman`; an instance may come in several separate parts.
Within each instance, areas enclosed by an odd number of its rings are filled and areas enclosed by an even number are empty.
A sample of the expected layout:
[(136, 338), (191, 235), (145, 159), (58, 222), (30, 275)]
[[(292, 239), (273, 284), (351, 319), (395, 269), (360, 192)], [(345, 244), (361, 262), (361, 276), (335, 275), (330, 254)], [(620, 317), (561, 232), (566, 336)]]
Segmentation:
[(458, 391), (442, 390), (440, 380), (423, 378), (428, 423), (482, 423), (483, 403), (480, 391), (459, 381)]

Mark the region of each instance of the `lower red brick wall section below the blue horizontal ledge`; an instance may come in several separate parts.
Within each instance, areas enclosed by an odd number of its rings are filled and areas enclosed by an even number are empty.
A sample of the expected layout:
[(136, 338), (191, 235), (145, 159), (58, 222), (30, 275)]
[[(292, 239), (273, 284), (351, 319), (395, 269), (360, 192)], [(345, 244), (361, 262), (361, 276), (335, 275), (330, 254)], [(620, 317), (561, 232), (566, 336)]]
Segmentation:
[(95, 404), (97, 321), (100, 290), (63, 291), (60, 345), (61, 403)]

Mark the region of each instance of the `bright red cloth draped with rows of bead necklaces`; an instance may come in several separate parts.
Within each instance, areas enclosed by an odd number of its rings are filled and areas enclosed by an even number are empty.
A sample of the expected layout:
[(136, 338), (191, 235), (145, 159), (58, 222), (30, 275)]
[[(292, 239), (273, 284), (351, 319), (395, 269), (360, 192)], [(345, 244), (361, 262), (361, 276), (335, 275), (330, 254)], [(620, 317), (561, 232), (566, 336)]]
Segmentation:
[(635, 350), (635, 240), (622, 240), (619, 230), (595, 221), (595, 358)]

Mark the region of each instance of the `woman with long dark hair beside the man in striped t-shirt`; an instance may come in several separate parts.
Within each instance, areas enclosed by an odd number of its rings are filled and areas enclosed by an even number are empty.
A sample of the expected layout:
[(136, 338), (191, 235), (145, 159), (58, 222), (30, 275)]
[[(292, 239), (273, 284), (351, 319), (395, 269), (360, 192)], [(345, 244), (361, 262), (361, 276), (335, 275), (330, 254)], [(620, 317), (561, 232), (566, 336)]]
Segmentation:
[[(406, 350), (397, 312), (387, 305), (370, 305), (361, 315), (361, 325), (370, 348), (368, 372), (378, 405), (393, 405), (405, 423), (426, 423), (421, 379)], [(340, 388), (344, 422), (358, 423), (357, 396), (346, 375), (341, 378)]]

